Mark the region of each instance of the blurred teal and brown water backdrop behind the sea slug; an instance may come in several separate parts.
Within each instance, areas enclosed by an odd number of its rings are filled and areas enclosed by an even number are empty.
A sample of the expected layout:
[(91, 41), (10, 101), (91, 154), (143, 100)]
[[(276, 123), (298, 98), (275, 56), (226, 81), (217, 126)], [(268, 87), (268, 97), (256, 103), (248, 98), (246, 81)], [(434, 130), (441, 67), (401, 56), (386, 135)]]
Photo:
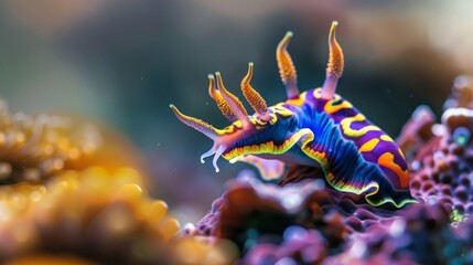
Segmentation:
[(196, 222), (250, 166), (221, 160), (215, 173), (201, 165), (212, 142), (170, 103), (225, 127), (207, 74), (219, 71), (240, 95), (248, 62), (254, 87), (269, 105), (282, 102), (275, 49), (288, 30), (299, 87), (318, 87), (337, 20), (338, 93), (396, 137), (420, 104), (440, 116), (454, 77), (473, 73), (471, 10), (466, 0), (1, 0), (0, 97), (11, 113), (69, 115), (112, 131), (150, 194), (181, 223)]

